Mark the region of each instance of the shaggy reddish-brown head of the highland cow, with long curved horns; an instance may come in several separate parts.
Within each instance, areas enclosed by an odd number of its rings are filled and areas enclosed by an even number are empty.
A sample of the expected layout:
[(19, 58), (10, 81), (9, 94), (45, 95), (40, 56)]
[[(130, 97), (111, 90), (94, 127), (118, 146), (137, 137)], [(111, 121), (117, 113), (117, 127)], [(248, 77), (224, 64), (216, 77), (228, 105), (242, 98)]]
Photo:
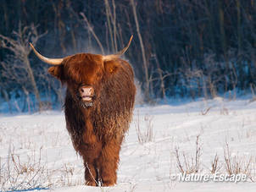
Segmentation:
[(75, 101), (79, 101), (82, 107), (92, 107), (103, 81), (119, 70), (120, 63), (114, 61), (125, 53), (131, 40), (132, 36), (123, 50), (107, 56), (79, 53), (66, 58), (46, 58), (32, 44), (31, 47), (38, 58), (53, 65), (48, 72), (67, 85)]

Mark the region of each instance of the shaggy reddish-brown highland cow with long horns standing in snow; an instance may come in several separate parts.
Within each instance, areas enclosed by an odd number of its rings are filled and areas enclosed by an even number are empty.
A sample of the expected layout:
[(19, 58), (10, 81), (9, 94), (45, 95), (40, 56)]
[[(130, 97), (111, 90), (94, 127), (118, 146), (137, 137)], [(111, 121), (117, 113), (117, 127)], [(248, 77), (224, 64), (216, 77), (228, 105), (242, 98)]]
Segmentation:
[[(132, 36), (131, 36), (132, 39)], [(83, 158), (87, 185), (116, 184), (119, 153), (129, 129), (136, 94), (131, 65), (120, 56), (79, 53), (45, 58), (48, 72), (67, 85), (64, 102), (66, 128), (75, 151)]]

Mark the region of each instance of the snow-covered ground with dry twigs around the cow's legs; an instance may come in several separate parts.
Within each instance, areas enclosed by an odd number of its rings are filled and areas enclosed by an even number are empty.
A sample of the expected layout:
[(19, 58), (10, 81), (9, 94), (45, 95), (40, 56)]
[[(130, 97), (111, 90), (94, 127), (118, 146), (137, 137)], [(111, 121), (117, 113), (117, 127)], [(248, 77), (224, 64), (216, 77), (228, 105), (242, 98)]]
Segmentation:
[[(228, 173), (229, 164), (230, 173), (246, 173), (247, 181), (175, 178), (181, 168), (186, 173), (214, 175), (214, 156), (218, 157), (216, 172)], [(118, 184), (112, 188), (83, 185), (84, 168), (65, 129), (63, 112), (4, 114), (0, 116), (0, 167), (2, 191), (255, 191), (256, 101), (218, 97), (136, 107), (120, 151)]]

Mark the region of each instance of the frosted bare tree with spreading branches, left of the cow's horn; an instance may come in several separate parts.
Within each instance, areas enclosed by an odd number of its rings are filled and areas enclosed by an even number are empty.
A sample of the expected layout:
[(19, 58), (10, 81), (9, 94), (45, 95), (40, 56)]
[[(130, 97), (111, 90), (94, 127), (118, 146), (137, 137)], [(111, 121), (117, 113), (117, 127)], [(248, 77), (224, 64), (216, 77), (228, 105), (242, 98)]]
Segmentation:
[(0, 47), (10, 51), (10, 54), (1, 62), (4, 71), (3, 77), (10, 82), (15, 81), (18, 83), (25, 92), (25, 95), (28, 95), (26, 85), (31, 85), (38, 102), (39, 110), (42, 110), (42, 101), (29, 60), (29, 54), (31, 52), (29, 42), (36, 45), (36, 41), (44, 35), (45, 33), (38, 34), (37, 26), (32, 24), (22, 27), (20, 23), (19, 30), (14, 31), (12, 37), (0, 34)]

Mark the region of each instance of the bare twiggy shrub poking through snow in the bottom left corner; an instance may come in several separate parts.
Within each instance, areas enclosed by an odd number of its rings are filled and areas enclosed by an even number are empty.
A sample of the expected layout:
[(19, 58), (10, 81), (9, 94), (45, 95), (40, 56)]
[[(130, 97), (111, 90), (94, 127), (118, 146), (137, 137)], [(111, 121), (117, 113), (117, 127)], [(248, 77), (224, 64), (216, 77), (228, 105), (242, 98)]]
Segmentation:
[(14, 154), (11, 148), (6, 162), (0, 161), (0, 184), (1, 191), (24, 190), (24, 189), (47, 189), (51, 184), (47, 182), (46, 166), (41, 161), (36, 151), (27, 155), (26, 161)]

